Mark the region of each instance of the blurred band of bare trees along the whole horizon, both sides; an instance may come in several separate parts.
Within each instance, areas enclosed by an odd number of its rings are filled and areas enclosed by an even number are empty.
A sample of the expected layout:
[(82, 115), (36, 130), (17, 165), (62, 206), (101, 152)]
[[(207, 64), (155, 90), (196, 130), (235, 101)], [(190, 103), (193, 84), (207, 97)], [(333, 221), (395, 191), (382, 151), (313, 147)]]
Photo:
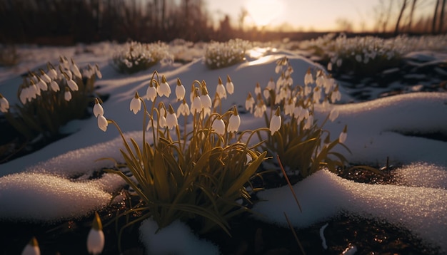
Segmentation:
[[(0, 43), (68, 46), (176, 38), (193, 42), (306, 40), (327, 33), (247, 27), (243, 22), (250, 10), (234, 10), (237, 20), (231, 20), (230, 15), (210, 13), (207, 6), (206, 0), (0, 0)], [(416, 16), (421, 6), (432, 11)], [(446, 0), (380, 0), (371, 12), (373, 29), (356, 31), (356, 35), (390, 37), (447, 31)], [(348, 36), (353, 33), (353, 22), (348, 19), (341, 17), (336, 26)]]

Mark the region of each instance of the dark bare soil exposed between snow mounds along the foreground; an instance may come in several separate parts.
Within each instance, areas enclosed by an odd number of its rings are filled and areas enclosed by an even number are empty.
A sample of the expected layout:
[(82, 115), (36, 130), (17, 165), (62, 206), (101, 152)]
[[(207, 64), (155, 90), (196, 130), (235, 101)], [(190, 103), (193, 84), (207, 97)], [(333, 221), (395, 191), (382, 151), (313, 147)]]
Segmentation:
[[(346, 168), (338, 170), (338, 175), (357, 182), (393, 184), (393, 169), (392, 166), (383, 167), (381, 174), (378, 174), (361, 168)], [(275, 173), (268, 174), (263, 182), (270, 187), (285, 184), (284, 179)], [(256, 195), (254, 198), (256, 202)], [(124, 229), (119, 252), (118, 233), (124, 225), (124, 218), (119, 218), (117, 222), (115, 215), (124, 209), (126, 205), (121, 204), (99, 212), (106, 236), (103, 254), (145, 252), (139, 241), (139, 224)], [(86, 237), (92, 220), (93, 215), (53, 224), (0, 222), (0, 228), (3, 229), (0, 231), (0, 255), (19, 254), (32, 236), (39, 241), (41, 254), (87, 254)], [(326, 223), (328, 227), (324, 230), (324, 236), (328, 248), (323, 249), (319, 231)], [(293, 230), (267, 224), (244, 214), (232, 219), (230, 226), (231, 236), (219, 229), (200, 236), (218, 245), (221, 254), (342, 254), (349, 246), (356, 246), (356, 254), (441, 254), (439, 249), (417, 239), (408, 229), (350, 214), (340, 214), (306, 229)], [(298, 240), (293, 236), (293, 231)]]

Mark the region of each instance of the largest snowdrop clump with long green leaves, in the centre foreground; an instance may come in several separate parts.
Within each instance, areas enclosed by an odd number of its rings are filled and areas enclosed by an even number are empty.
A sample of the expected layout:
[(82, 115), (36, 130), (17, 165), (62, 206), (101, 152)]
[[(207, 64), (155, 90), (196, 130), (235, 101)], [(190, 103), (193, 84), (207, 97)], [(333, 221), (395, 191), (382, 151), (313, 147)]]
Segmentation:
[(135, 92), (129, 109), (141, 115), (141, 142), (126, 139), (119, 125), (104, 117), (104, 108), (96, 100), (99, 128), (105, 132), (109, 124), (114, 125), (124, 142), (124, 162), (109, 159), (116, 167), (106, 171), (124, 178), (140, 199), (124, 212), (141, 213), (129, 224), (151, 217), (163, 228), (180, 219), (194, 222), (201, 232), (215, 227), (228, 232), (228, 219), (246, 212), (249, 190), (256, 191), (250, 181), (258, 175), (266, 152), (257, 152), (248, 143), (259, 130), (238, 132), (241, 118), (236, 106), (220, 112), (224, 93), (233, 93), (231, 78), (225, 86), (219, 78), (219, 93), (213, 100), (204, 80), (194, 80), (189, 93), (180, 79), (176, 83), (176, 110), (164, 103), (171, 87), (157, 71), (144, 97)]

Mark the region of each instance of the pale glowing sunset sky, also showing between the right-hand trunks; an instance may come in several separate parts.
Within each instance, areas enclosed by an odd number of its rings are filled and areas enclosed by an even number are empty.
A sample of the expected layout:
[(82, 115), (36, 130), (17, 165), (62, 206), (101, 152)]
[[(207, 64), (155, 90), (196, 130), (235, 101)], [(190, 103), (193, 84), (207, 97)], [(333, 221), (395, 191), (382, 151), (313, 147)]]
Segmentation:
[[(302, 31), (302, 32), (331, 32), (340, 31), (343, 26), (351, 26), (353, 32), (374, 31), (379, 7), (388, 6), (388, 2), (382, 0), (318, 0), (318, 1), (293, 1), (293, 0), (205, 0), (206, 9), (209, 10), (214, 22), (229, 16), (231, 25), (238, 27), (238, 18), (242, 9), (248, 11), (244, 20), (244, 29), (253, 26), (266, 30)], [(393, 28), (394, 19), (398, 16), (401, 3), (393, 2), (391, 19), (388, 26)], [(415, 21), (423, 16), (433, 13), (433, 1), (418, 2), (415, 9)], [(411, 3), (408, 2), (405, 14), (410, 11)], [(259, 8), (261, 7), (261, 8)], [(270, 19), (263, 19), (271, 14), (271, 9), (277, 9), (277, 13)], [(214, 15), (217, 14), (217, 15)], [(406, 20), (403, 20), (406, 23)], [(388, 27), (388, 28), (390, 28)]]

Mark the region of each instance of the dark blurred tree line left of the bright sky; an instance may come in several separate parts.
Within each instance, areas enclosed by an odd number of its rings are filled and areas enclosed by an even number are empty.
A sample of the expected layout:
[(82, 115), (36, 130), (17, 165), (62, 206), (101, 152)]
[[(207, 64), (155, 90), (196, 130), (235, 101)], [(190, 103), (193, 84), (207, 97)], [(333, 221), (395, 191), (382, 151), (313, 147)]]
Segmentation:
[(0, 0), (0, 43), (225, 37), (205, 7), (203, 0)]

